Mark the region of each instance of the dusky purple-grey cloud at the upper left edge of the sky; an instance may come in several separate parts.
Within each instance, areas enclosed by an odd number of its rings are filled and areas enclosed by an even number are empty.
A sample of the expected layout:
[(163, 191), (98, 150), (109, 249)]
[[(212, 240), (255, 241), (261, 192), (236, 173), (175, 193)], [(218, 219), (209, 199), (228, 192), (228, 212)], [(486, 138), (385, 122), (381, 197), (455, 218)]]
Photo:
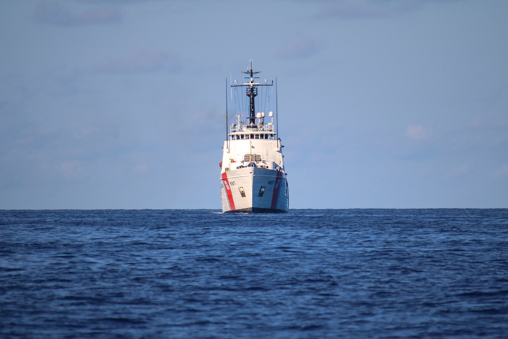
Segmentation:
[(79, 26), (120, 22), (122, 13), (117, 7), (111, 6), (72, 13), (58, 1), (43, 1), (35, 8), (33, 18), (46, 24)]

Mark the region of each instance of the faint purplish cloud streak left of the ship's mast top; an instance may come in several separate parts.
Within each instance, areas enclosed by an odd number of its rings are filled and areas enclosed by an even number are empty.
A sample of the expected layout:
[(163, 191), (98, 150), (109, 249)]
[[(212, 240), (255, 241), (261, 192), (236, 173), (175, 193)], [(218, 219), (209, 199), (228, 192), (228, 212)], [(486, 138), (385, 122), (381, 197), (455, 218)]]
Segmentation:
[(146, 73), (163, 68), (174, 69), (179, 66), (178, 57), (171, 51), (134, 51), (115, 59), (110, 59), (95, 67), (100, 73)]

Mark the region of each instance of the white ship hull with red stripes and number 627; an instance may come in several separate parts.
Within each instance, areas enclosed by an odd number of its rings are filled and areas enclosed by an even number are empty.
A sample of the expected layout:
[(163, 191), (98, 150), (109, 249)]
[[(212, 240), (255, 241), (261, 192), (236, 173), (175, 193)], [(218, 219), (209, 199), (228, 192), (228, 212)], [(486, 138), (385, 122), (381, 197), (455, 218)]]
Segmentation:
[(221, 174), (223, 212), (285, 213), (288, 182), (281, 171), (245, 167)]

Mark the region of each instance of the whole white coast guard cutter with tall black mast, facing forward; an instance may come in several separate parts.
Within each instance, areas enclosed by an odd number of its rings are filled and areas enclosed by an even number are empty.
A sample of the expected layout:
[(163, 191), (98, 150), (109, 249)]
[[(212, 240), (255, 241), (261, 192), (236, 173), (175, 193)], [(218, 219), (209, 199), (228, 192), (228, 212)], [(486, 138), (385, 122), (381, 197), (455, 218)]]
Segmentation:
[[(223, 212), (287, 212), (289, 190), (282, 156), (284, 146), (273, 125), (273, 112), (268, 113), (270, 121), (265, 121), (265, 112), (255, 113), (258, 87), (265, 90), (267, 97), (268, 86), (273, 86), (273, 81), (271, 84), (266, 80), (265, 84), (255, 82), (258, 77), (254, 75), (261, 72), (252, 70), (252, 60), (247, 71), (242, 73), (249, 75), (245, 77), (249, 81), (238, 83), (235, 80), (231, 88), (235, 88), (235, 93), (239, 90), (241, 96), (245, 89), (248, 108), (245, 117), (235, 115), (236, 122), (228, 125), (223, 161), (219, 164), (222, 209)], [(226, 108), (226, 121), (227, 114)]]

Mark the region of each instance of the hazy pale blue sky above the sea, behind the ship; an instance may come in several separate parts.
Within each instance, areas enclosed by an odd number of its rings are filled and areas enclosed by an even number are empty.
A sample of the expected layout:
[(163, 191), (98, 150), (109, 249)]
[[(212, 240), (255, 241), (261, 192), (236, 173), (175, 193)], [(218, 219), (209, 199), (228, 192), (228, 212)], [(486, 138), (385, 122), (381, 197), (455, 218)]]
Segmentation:
[(507, 17), (505, 0), (2, 0), (0, 209), (219, 209), (226, 82), (249, 60), (277, 79), (290, 208), (507, 208)]

